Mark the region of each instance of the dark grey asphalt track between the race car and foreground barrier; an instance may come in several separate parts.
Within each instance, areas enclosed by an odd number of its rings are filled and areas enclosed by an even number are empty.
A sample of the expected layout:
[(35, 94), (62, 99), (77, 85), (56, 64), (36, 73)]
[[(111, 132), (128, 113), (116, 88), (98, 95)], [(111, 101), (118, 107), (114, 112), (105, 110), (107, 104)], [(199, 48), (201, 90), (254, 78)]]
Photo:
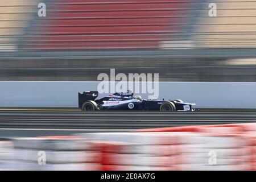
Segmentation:
[(256, 122), (256, 112), (0, 111), (0, 137)]

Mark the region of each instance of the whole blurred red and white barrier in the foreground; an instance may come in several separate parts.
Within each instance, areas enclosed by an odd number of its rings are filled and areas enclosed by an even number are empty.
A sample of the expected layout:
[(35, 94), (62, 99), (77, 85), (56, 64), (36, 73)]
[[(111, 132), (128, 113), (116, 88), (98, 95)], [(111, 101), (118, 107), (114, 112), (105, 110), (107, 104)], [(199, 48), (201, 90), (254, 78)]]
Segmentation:
[(245, 123), (13, 138), (0, 142), (0, 168), (255, 170), (255, 134), (256, 123)]

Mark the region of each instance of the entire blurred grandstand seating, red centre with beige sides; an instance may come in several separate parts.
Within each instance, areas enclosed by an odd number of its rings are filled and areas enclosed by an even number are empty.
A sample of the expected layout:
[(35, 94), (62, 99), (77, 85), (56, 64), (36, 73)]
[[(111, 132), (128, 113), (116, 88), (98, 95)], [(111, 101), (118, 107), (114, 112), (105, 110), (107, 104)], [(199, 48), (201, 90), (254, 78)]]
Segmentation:
[(0, 0), (0, 51), (256, 47), (256, 0)]

